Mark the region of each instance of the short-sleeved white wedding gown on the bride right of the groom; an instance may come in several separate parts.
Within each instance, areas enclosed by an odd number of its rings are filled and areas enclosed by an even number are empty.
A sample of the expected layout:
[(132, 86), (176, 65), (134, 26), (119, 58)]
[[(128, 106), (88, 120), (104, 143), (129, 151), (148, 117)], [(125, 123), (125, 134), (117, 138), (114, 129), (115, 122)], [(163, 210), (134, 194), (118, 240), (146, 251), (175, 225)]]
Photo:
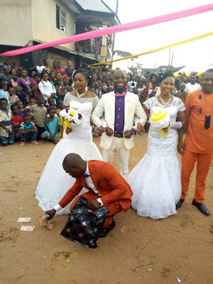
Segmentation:
[[(168, 107), (160, 104), (156, 97), (151, 97), (143, 104), (151, 114), (159, 107), (168, 111), (172, 122), (176, 121), (178, 111), (185, 111), (184, 104), (177, 97)], [(177, 140), (176, 129), (169, 129), (165, 139), (161, 139), (160, 131), (150, 126), (147, 152), (128, 179), (133, 190), (132, 207), (138, 216), (162, 219), (176, 214), (175, 204), (181, 196)]]

